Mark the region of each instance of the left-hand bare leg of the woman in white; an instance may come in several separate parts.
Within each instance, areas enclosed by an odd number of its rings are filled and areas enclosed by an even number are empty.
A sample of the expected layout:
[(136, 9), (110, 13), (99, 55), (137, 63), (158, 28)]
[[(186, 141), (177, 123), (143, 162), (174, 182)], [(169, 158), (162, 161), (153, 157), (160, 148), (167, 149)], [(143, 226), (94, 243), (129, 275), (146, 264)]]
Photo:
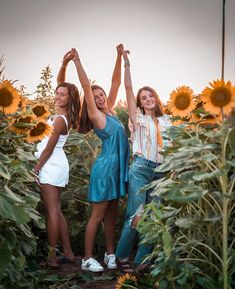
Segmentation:
[(56, 243), (59, 238), (60, 223), (60, 191), (58, 187), (42, 184), (42, 201), (46, 211), (47, 235), (50, 245), (49, 261), (52, 266), (57, 265)]

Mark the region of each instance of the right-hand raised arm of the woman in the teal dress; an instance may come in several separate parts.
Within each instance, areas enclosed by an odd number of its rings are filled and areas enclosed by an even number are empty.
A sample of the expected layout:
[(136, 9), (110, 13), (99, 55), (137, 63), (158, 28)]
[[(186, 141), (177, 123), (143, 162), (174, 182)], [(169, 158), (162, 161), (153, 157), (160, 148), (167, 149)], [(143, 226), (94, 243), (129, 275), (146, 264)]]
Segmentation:
[(118, 89), (121, 85), (121, 64), (122, 64), (122, 54), (124, 51), (123, 45), (119, 44), (117, 47), (117, 58), (113, 70), (113, 76), (112, 76), (112, 83), (111, 83), (111, 88), (110, 92), (108, 95), (108, 105), (112, 109), (116, 98), (118, 94)]

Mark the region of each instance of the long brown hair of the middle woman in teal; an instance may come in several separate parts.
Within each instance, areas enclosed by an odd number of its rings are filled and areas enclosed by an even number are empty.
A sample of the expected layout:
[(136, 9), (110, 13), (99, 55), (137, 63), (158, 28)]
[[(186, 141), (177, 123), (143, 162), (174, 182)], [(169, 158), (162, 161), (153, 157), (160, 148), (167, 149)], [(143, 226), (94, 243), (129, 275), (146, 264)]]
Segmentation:
[[(99, 85), (97, 84), (93, 84), (91, 85), (91, 90), (92, 92), (95, 90), (95, 89), (101, 89), (106, 96), (106, 93), (105, 91), (103, 90), (102, 87), (100, 87)], [(85, 97), (83, 98), (83, 103), (82, 103), (82, 111), (81, 111), (81, 117), (80, 117), (80, 121), (79, 121), (79, 128), (78, 128), (78, 132), (80, 133), (87, 133), (89, 132), (90, 130), (93, 129), (93, 124), (88, 116), (88, 111), (87, 111), (87, 103), (86, 103), (86, 100), (85, 100)]]

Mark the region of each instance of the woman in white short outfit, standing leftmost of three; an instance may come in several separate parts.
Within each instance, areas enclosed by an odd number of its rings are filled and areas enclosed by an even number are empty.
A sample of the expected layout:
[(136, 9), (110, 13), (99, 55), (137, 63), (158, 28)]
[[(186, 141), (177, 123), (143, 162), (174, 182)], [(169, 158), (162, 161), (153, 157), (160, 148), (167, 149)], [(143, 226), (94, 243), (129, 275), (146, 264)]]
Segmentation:
[(66, 220), (61, 212), (60, 190), (68, 184), (69, 164), (63, 146), (69, 129), (77, 128), (80, 112), (80, 96), (77, 87), (71, 83), (60, 83), (55, 91), (56, 114), (48, 123), (53, 126), (50, 137), (45, 137), (35, 153), (38, 158), (34, 172), (38, 175), (41, 197), (46, 211), (48, 242), (50, 246), (48, 266), (59, 268), (56, 257), (56, 243), (61, 239), (63, 254), (67, 261), (75, 260)]

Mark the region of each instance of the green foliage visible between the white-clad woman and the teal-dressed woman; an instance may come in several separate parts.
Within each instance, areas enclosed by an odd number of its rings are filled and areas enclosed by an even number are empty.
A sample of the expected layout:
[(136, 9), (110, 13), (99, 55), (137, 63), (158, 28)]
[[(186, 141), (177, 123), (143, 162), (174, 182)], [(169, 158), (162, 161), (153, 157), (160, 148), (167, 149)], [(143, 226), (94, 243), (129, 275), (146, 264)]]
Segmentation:
[(75, 252), (84, 250), (84, 234), (90, 215), (87, 191), (91, 165), (100, 150), (100, 140), (94, 133), (70, 133), (64, 146), (69, 159), (69, 185), (62, 192), (63, 211), (67, 216)]

